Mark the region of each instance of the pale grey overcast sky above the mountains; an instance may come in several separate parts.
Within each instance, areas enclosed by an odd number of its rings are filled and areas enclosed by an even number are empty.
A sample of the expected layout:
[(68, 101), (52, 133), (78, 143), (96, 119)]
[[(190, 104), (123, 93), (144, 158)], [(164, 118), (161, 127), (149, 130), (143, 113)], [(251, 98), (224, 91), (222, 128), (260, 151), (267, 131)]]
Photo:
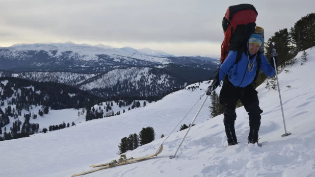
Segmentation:
[(0, 0), (0, 46), (72, 41), (219, 56), (226, 9), (243, 3), (258, 11), (265, 41), (315, 12), (314, 0)]

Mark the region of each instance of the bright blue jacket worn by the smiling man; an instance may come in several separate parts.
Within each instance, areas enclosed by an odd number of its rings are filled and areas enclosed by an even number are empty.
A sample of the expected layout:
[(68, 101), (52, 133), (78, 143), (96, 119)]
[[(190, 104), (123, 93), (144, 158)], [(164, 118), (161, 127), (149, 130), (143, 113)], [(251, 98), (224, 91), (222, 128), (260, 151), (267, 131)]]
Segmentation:
[[(243, 52), (242, 58), (238, 64), (235, 64), (235, 60), (237, 58), (238, 52), (233, 52), (232, 50), (229, 52), (228, 56), (220, 66), (219, 70), (219, 82), (228, 75), (229, 81), (235, 87), (246, 87), (254, 81), (256, 70), (257, 70), (257, 61), (256, 58), (253, 57), (250, 59), (250, 63), (255, 60), (254, 68), (250, 72), (248, 71), (248, 56)], [(250, 54), (249, 54), (250, 55)], [(264, 71), (266, 75), (269, 77), (273, 77), (275, 74), (275, 69), (268, 62), (265, 55), (260, 54), (261, 64), (260, 68)]]

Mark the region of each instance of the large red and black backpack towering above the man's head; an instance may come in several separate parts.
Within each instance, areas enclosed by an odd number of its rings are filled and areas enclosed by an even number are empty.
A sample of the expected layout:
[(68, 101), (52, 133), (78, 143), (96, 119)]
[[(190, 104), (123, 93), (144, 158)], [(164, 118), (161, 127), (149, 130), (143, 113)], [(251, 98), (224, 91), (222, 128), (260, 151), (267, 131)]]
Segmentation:
[(250, 4), (240, 4), (227, 8), (222, 21), (224, 40), (221, 45), (221, 64), (230, 50), (238, 50), (246, 45), (250, 35), (255, 33), (258, 12)]

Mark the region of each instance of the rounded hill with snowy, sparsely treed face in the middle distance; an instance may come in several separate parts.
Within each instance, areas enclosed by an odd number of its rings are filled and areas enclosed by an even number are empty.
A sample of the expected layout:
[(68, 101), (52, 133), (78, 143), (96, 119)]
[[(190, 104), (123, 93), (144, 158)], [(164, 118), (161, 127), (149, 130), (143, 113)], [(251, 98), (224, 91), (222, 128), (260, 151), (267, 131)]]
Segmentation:
[(97, 80), (81, 85), (80, 89), (103, 97), (111, 96), (113, 93), (115, 95), (153, 96), (160, 95), (175, 87), (184, 86), (185, 80), (180, 80), (173, 73), (163, 73), (156, 68), (133, 67), (110, 71)]

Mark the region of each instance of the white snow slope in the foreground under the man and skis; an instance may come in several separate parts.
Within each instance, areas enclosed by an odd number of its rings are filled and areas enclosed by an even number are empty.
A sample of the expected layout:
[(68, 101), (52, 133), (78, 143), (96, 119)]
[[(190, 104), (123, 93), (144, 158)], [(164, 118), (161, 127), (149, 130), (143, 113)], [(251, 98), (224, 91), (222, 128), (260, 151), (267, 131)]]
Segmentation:
[[(259, 130), (263, 147), (247, 144), (248, 116), (237, 109), (235, 132), (239, 145), (227, 147), (223, 115), (209, 119), (207, 99), (176, 158), (174, 155), (186, 131), (174, 132), (163, 144), (158, 157), (101, 170), (86, 176), (315, 176), (315, 50), (308, 49), (308, 60), (286, 67), (279, 73), (287, 132), (276, 90), (265, 83), (257, 88), (261, 114)], [(198, 84), (196, 84), (198, 85)], [(168, 134), (199, 100), (182, 123), (189, 124), (201, 106), (207, 86), (180, 90), (146, 107), (119, 116), (82, 122), (76, 126), (0, 142), (0, 176), (71, 176), (90, 170), (92, 164), (118, 159), (120, 139), (153, 127), (156, 140), (126, 153), (127, 158), (155, 153)], [(286, 86), (290, 85), (291, 88)], [(200, 90), (201, 89), (201, 90)], [(220, 87), (217, 91), (220, 90)], [(209, 119), (209, 120), (207, 120)], [(176, 128), (178, 130), (179, 127)], [(166, 137), (160, 138), (161, 134)]]

